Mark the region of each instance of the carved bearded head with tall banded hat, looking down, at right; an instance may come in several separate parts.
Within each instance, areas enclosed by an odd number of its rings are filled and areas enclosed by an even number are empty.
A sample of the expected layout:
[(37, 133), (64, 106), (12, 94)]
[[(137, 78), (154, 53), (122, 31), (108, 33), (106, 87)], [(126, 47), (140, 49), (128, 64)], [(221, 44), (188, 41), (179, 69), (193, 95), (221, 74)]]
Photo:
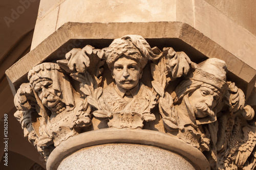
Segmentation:
[(197, 118), (215, 117), (214, 110), (227, 88), (226, 68), (226, 63), (216, 58), (198, 64), (198, 68), (175, 89), (175, 102), (187, 95)]

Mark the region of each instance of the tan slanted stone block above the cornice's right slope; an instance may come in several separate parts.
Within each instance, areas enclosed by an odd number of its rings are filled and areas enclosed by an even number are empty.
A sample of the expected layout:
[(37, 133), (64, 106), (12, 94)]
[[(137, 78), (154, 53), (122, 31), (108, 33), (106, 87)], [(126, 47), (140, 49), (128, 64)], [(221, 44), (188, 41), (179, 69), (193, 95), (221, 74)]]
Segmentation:
[(256, 37), (204, 1), (195, 1), (195, 28), (252, 68)]

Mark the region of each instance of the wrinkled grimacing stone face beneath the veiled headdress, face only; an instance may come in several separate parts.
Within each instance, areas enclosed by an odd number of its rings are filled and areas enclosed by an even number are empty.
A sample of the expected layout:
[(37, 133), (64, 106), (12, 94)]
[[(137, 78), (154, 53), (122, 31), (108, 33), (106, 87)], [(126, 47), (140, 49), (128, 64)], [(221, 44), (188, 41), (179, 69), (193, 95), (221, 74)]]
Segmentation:
[(42, 101), (42, 104), (47, 108), (54, 108), (60, 103), (59, 95), (57, 94), (57, 91), (53, 89), (51, 80), (36, 83), (34, 89), (37, 92), (39, 99)]

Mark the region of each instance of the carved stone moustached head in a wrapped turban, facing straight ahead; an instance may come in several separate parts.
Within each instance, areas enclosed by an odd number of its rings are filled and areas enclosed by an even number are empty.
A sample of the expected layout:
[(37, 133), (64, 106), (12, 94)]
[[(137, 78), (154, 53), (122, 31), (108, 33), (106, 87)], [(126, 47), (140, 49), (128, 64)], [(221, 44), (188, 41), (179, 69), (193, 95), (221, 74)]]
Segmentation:
[(105, 57), (116, 84), (124, 89), (132, 89), (138, 84), (147, 61), (157, 60), (160, 56), (153, 53), (141, 36), (126, 35), (110, 44)]

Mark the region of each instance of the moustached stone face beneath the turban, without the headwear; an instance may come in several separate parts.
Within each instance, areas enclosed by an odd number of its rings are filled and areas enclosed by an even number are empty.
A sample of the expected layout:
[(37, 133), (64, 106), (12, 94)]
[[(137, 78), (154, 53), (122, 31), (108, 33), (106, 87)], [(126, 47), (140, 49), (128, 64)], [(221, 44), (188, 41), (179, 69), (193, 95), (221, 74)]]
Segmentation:
[(129, 90), (139, 83), (142, 68), (135, 60), (122, 56), (114, 63), (112, 76), (117, 86)]

